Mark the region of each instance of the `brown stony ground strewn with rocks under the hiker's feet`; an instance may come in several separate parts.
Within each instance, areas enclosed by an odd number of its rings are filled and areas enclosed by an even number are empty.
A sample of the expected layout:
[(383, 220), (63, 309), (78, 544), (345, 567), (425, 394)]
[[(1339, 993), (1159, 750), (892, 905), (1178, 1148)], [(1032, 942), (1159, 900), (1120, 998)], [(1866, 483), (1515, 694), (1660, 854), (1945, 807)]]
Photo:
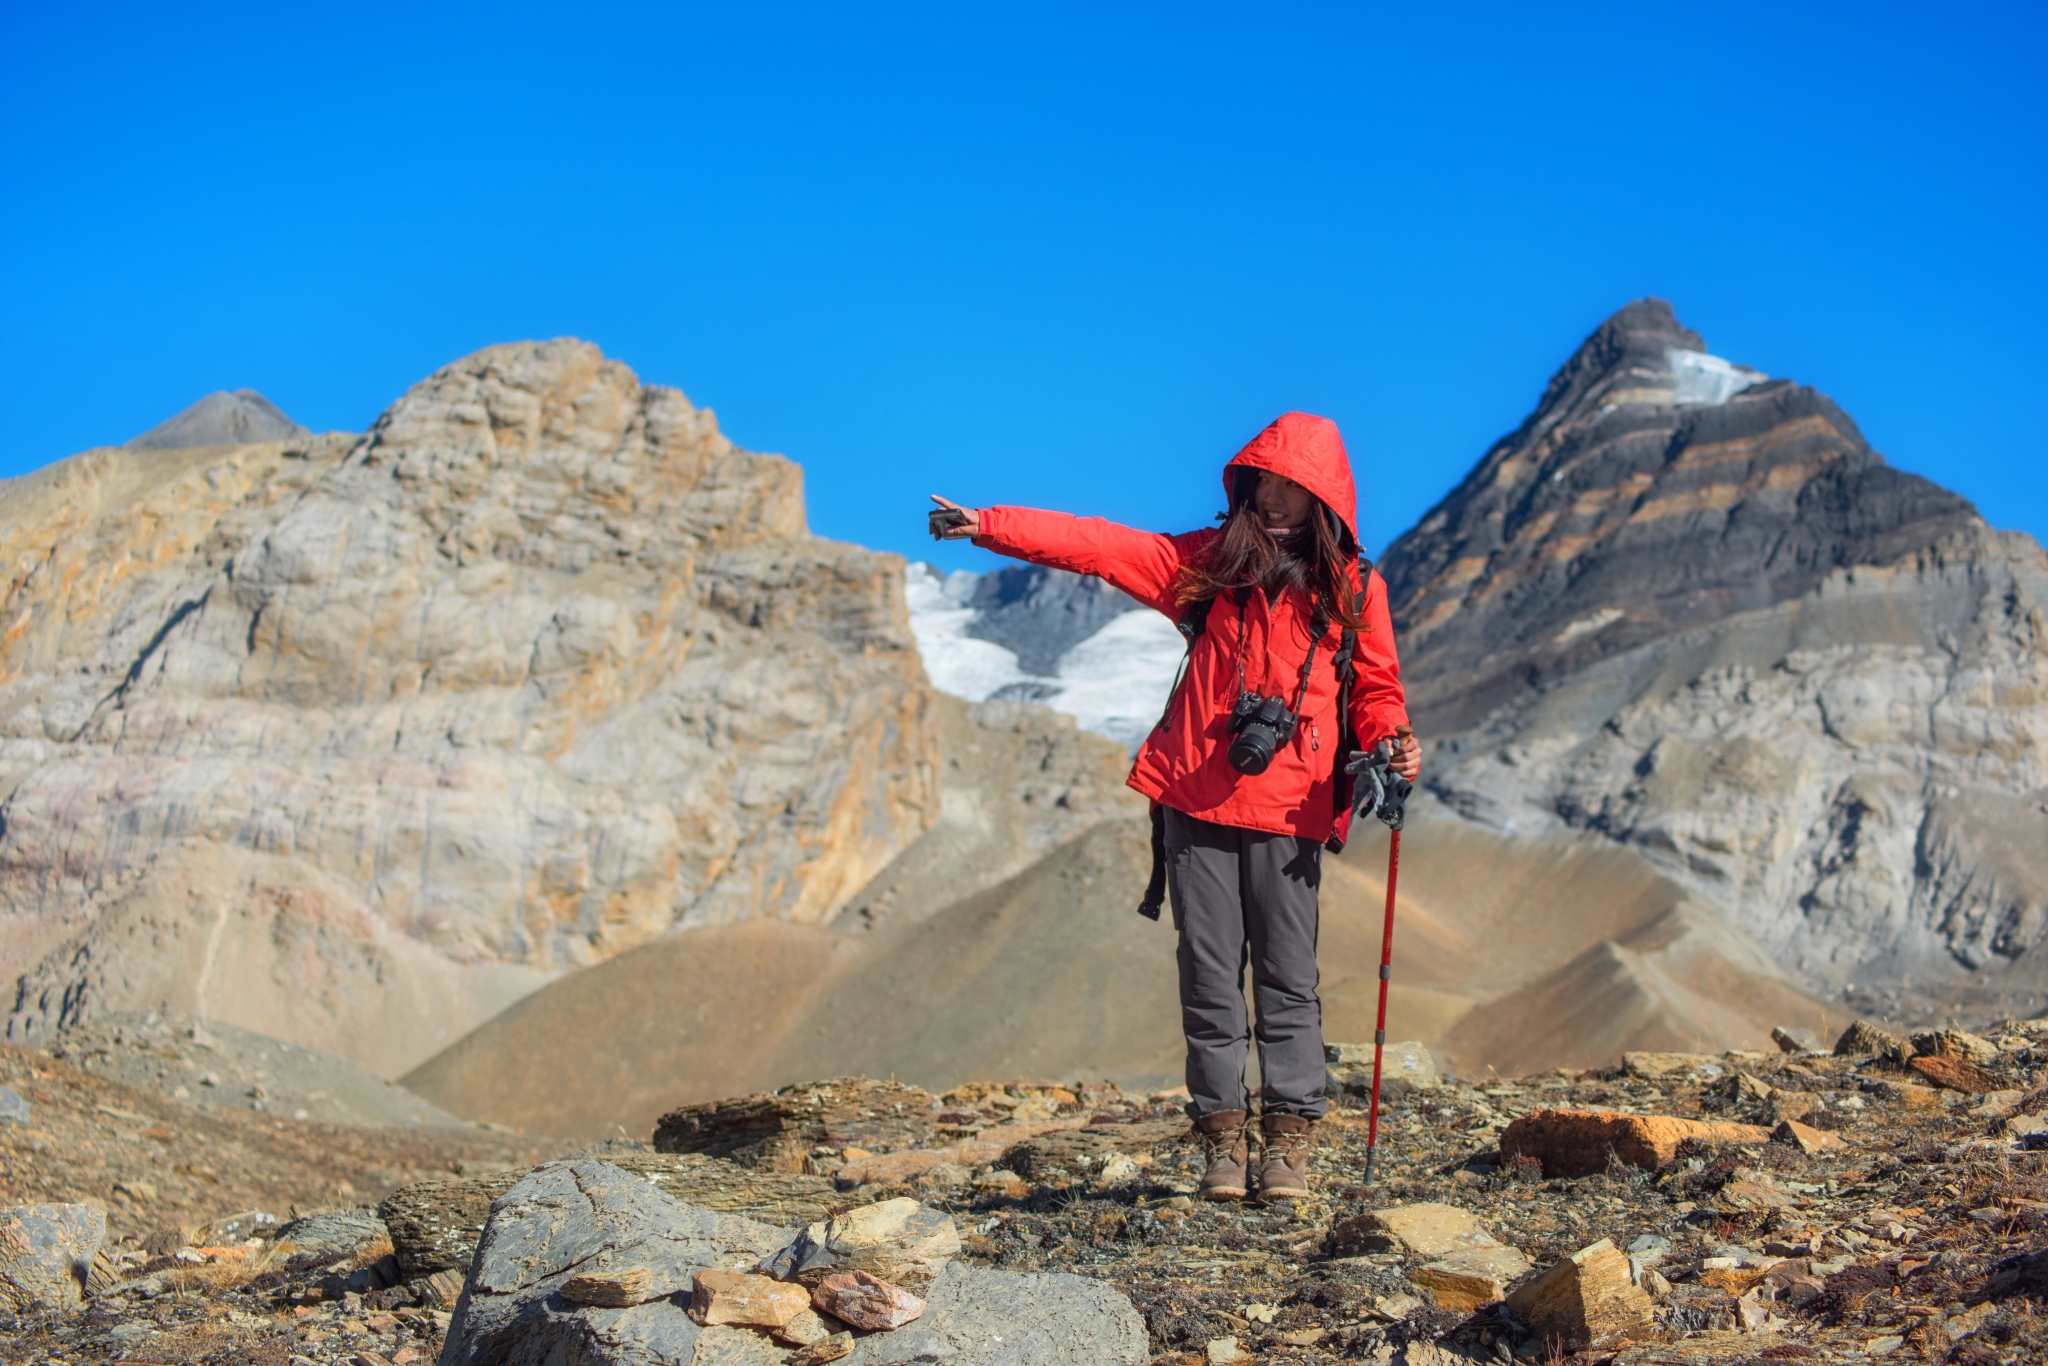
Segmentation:
[[(1180, 1141), (1180, 1098), (1102, 1083), (784, 1087), (678, 1110), (651, 1145), (594, 1155), (782, 1227), (915, 1196), (952, 1214), (971, 1264), (1069, 1270), (1126, 1294), (1157, 1366), (2042, 1360), (2048, 1151), (2030, 1143), (2048, 1143), (2032, 1137), (2048, 1135), (2048, 1024), (1849, 1042), (1839, 1057), (1630, 1055), (1518, 1081), (1423, 1075), (1382, 1110), (1370, 1192), (1364, 1110), (1346, 1094), (1319, 1128), (1315, 1196), (1278, 1206), (1192, 1200), (1198, 1157)], [(31, 1106), (29, 1124), (0, 1126), (6, 1200), (96, 1200), (111, 1225), (82, 1313), (4, 1319), (10, 1362), (430, 1360), (481, 1210), (512, 1167), (559, 1155), (477, 1130), (205, 1112), (27, 1051), (0, 1063)], [(1642, 1114), (1755, 1128), (1667, 1143), (1669, 1155), (1616, 1141), (1577, 1176), (1583, 1151), (1542, 1147), (1554, 1110), (1589, 1112), (1579, 1124)], [(387, 1223), (369, 1210), (289, 1223), (293, 1206), (373, 1200)], [(1415, 1204), (1452, 1206), (1442, 1219), (1526, 1260), (1524, 1288), (1507, 1305), (1458, 1307), (1421, 1239), (1389, 1235), (1393, 1206)], [(221, 1221), (250, 1206), (283, 1227)], [(1620, 1251), (1597, 1251), (1602, 1239)], [(1548, 1311), (1528, 1307), (1526, 1286), (1589, 1247), (1581, 1262), (1620, 1268), (1612, 1303), (1585, 1315), (1585, 1341), (1536, 1331)]]

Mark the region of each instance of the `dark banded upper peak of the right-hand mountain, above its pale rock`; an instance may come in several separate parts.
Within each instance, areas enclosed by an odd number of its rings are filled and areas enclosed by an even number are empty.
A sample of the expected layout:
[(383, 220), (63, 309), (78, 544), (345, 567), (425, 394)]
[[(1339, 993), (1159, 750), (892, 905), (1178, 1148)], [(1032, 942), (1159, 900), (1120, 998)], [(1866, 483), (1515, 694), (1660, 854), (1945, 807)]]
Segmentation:
[(1403, 672), (1442, 731), (1962, 526), (1982, 526), (1966, 500), (1890, 469), (1823, 393), (1708, 354), (1669, 303), (1638, 299), (1380, 569)]

